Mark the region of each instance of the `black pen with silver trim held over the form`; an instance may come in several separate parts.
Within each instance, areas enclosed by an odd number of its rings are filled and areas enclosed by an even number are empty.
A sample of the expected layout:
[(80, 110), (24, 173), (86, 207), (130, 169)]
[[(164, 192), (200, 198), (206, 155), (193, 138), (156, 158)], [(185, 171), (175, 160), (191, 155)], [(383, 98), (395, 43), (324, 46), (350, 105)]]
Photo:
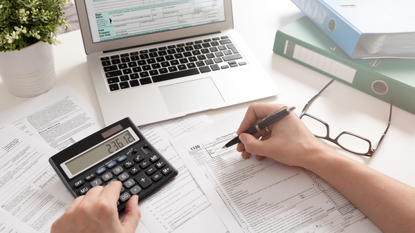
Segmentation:
[[(288, 116), (288, 114), (291, 113), (291, 111), (295, 110), (295, 107), (288, 108), (287, 106), (280, 108), (279, 110), (271, 113), (268, 115), (268, 117), (262, 119), (260, 123), (255, 125), (254, 127), (250, 128), (249, 130), (246, 130), (244, 133), (246, 134), (255, 134), (261, 130), (264, 130), (267, 126), (272, 125), (273, 123), (283, 119), (284, 117)], [(226, 143), (222, 149), (229, 148), (232, 145), (235, 145), (237, 143), (240, 143), (241, 140), (239, 140), (239, 136), (235, 136), (234, 139), (230, 140), (228, 143)]]

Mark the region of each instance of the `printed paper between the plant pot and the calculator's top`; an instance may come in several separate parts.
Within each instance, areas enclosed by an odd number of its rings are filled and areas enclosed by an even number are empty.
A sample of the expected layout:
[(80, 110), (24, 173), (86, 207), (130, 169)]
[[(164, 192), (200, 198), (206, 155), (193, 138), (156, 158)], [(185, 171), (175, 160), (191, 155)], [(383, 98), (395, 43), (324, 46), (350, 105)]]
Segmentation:
[(65, 85), (1, 112), (0, 128), (6, 124), (63, 150), (102, 129), (104, 120)]

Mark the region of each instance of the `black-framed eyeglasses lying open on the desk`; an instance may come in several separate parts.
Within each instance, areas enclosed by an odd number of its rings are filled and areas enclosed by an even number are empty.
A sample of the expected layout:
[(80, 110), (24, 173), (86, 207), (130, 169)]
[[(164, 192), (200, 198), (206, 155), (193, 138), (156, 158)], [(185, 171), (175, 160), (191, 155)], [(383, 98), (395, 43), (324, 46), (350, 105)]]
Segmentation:
[(330, 134), (330, 128), (329, 124), (322, 121), (321, 119), (318, 119), (317, 117), (314, 117), (311, 114), (307, 114), (306, 109), (308, 108), (308, 105), (310, 105), (311, 102), (314, 101), (315, 98), (319, 94), (321, 94), (331, 83), (333, 83), (334, 79), (331, 80), (320, 92), (318, 92), (313, 98), (311, 98), (310, 101), (306, 103), (304, 106), (302, 112), (299, 114), (299, 118), (302, 119), (302, 121), (305, 123), (307, 128), (320, 139), (325, 139), (327, 141), (331, 141), (332, 143), (335, 143), (336, 145), (340, 146), (340, 148), (343, 148), (344, 150), (347, 150), (348, 152), (351, 152), (353, 154), (359, 154), (363, 156), (372, 156), (374, 152), (376, 151), (376, 148), (378, 148), (378, 145), (380, 145), (380, 142), (382, 142), (382, 139), (385, 137), (385, 134), (387, 130), (389, 129), (389, 125), (391, 124), (391, 115), (392, 115), (392, 101), (390, 104), (390, 110), (389, 110), (389, 121), (387, 123), (387, 128), (385, 132), (380, 137), (380, 140), (378, 143), (374, 145), (372, 148), (371, 141), (369, 139), (366, 139), (363, 136), (360, 136), (358, 134), (353, 134), (352, 132), (344, 131), (340, 133), (335, 139), (332, 139)]

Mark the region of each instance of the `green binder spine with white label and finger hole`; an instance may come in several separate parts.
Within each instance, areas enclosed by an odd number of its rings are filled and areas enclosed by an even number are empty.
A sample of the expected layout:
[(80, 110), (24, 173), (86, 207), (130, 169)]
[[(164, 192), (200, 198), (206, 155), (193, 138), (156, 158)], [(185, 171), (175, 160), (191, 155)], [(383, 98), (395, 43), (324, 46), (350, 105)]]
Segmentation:
[[(298, 52), (299, 49), (301, 52)], [(370, 66), (371, 61), (359, 60), (364, 62), (365, 65), (351, 63), (349, 59), (333, 56), (326, 50), (304, 43), (280, 31), (277, 31), (275, 35), (273, 51), (282, 57), (311, 68), (387, 103), (393, 100), (396, 107), (415, 114), (415, 103), (412, 101), (415, 99), (414, 88), (376, 72)]]

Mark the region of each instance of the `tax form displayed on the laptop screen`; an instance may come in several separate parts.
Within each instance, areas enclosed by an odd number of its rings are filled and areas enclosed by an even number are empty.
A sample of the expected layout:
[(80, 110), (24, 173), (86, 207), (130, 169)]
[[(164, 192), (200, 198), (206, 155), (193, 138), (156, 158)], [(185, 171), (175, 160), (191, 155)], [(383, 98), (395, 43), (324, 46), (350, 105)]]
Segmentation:
[(225, 21), (223, 0), (87, 0), (93, 43)]

